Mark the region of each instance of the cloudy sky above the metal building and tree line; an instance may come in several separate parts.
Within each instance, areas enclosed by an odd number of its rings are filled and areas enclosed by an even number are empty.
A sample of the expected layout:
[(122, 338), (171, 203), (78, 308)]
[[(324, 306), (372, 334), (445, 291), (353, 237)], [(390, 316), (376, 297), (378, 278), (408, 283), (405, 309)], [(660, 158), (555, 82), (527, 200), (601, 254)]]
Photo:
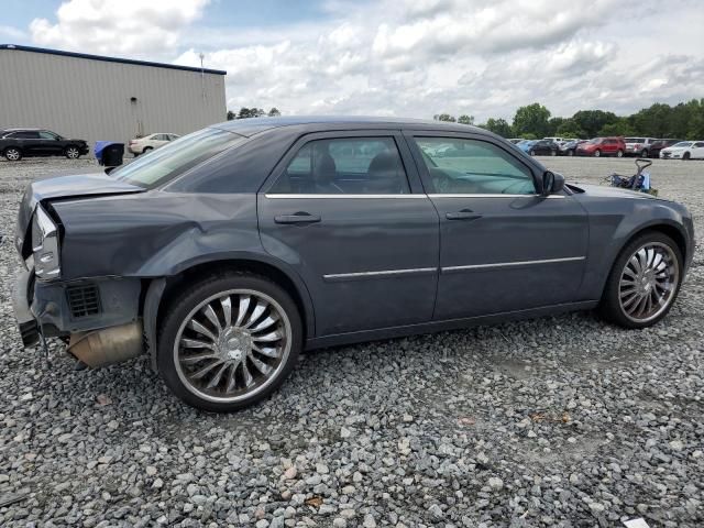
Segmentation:
[(629, 113), (704, 97), (704, 2), (28, 0), (0, 41), (228, 70), (284, 113)]

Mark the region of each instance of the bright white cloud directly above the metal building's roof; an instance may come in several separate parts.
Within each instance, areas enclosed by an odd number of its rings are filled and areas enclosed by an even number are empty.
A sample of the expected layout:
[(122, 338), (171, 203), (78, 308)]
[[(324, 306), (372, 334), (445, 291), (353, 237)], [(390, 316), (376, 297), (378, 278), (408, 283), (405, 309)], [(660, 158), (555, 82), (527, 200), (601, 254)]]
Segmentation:
[(173, 54), (182, 31), (209, 0), (68, 0), (57, 22), (34, 19), (32, 40), (41, 45), (99, 54), (158, 57)]

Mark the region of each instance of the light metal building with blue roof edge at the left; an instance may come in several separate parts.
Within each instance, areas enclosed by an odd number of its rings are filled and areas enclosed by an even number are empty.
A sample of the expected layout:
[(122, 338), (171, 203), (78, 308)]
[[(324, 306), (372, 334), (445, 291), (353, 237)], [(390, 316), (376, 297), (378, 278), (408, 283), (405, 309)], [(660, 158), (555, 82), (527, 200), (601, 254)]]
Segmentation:
[(0, 45), (0, 130), (127, 143), (226, 120), (226, 72)]

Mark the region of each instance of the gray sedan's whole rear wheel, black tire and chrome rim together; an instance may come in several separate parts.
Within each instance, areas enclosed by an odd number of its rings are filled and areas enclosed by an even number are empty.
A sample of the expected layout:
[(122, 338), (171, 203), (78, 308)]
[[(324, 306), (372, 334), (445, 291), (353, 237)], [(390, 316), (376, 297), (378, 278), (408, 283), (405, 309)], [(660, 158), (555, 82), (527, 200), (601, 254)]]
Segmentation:
[(179, 294), (166, 314), (160, 373), (176, 396), (202, 410), (229, 413), (263, 400), (302, 349), (296, 304), (257, 275), (208, 277)]

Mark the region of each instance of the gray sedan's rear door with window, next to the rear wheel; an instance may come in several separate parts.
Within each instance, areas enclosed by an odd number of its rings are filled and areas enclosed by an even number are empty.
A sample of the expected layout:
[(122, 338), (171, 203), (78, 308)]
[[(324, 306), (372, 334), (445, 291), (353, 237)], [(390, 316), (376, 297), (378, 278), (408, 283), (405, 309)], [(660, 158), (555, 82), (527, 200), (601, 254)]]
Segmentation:
[(318, 337), (432, 319), (438, 215), (403, 136), (305, 136), (257, 200), (262, 243), (302, 277)]

